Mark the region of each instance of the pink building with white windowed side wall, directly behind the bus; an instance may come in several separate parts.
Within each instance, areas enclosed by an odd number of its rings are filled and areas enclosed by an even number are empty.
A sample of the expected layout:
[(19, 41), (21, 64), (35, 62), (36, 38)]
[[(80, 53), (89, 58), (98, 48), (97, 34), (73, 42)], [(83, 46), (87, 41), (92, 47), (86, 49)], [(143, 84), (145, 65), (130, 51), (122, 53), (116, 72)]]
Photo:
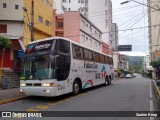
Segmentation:
[(79, 11), (55, 15), (55, 24), (55, 36), (66, 37), (102, 51), (102, 32)]

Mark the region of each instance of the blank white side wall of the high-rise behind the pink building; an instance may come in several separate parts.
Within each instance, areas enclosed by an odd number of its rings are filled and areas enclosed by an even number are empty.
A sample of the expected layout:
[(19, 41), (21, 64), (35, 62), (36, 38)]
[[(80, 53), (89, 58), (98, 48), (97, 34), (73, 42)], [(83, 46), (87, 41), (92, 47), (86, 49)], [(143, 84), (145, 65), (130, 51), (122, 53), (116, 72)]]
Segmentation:
[(89, 0), (88, 18), (102, 31), (102, 40), (111, 46), (112, 2)]

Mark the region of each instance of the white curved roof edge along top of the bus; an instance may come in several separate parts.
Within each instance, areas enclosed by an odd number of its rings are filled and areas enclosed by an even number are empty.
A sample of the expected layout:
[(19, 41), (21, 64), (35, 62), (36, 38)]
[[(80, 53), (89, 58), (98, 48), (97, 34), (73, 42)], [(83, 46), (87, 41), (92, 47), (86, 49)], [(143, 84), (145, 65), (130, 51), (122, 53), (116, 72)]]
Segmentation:
[(42, 42), (42, 41), (47, 41), (47, 40), (52, 40), (52, 39), (64, 39), (64, 40), (69, 41), (69, 42), (71, 42), (71, 43), (74, 43), (74, 44), (76, 44), (76, 45), (78, 45), (78, 46), (81, 46), (81, 47), (83, 47), (83, 48), (86, 48), (86, 49), (95, 51), (95, 52), (97, 52), (97, 53), (100, 53), (100, 54), (103, 54), (103, 55), (112, 57), (111, 55), (107, 55), (107, 54), (104, 54), (104, 53), (99, 52), (99, 51), (97, 51), (97, 50), (88, 48), (88, 47), (85, 46), (85, 45), (79, 44), (79, 43), (77, 43), (77, 42), (75, 42), (75, 41), (73, 41), (73, 40), (71, 40), (71, 39), (64, 38), (64, 37), (50, 37), (50, 38), (45, 38), (45, 39), (39, 39), (39, 40), (32, 41), (32, 42), (30, 42), (29, 44), (33, 44), (33, 43), (37, 43), (37, 42)]

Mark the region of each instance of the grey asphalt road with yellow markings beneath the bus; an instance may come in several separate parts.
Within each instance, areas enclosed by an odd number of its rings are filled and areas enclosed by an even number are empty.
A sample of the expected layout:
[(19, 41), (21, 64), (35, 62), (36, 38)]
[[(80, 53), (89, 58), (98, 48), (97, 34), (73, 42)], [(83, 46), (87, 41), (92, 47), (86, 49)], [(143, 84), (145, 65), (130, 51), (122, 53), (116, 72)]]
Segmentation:
[[(99, 86), (72, 96), (57, 98), (29, 97), (0, 106), (0, 111), (150, 111), (153, 107), (151, 80), (143, 77), (116, 80), (110, 86)], [(51, 112), (52, 113), (52, 112)], [(96, 116), (96, 115), (95, 115)], [(9, 118), (3, 118), (9, 119)], [(13, 119), (13, 118), (12, 118)], [(16, 118), (28, 119), (28, 118)], [(54, 117), (33, 120), (153, 120), (149, 117)]]

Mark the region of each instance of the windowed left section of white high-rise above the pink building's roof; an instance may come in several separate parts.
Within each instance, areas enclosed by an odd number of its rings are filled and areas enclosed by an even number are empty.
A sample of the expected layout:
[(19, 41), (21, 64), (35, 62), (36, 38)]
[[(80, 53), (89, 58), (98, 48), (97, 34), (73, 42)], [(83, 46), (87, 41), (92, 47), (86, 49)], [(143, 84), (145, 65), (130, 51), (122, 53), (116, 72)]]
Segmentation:
[(85, 17), (88, 17), (89, 0), (55, 0), (55, 9), (57, 14), (63, 14), (64, 11), (80, 11)]

